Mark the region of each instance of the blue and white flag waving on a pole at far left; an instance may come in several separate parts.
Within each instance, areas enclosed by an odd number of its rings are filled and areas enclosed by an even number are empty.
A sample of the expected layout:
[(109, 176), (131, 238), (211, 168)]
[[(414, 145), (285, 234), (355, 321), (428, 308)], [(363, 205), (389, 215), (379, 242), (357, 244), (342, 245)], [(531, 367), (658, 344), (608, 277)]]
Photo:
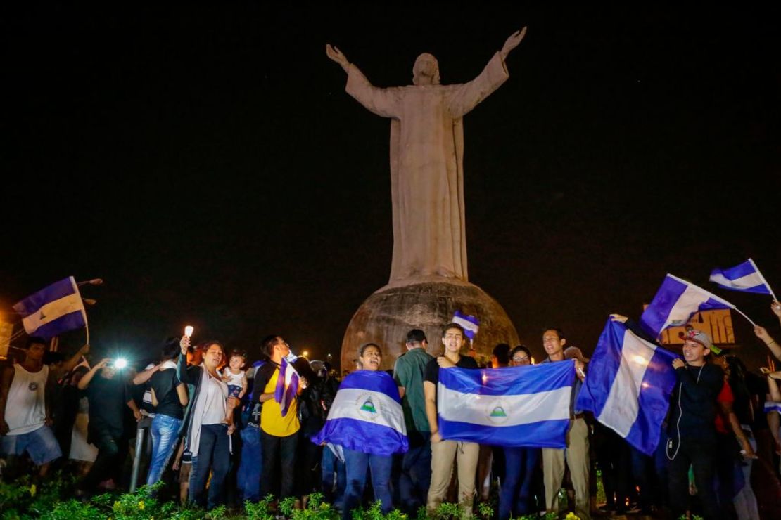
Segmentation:
[(27, 296), (13, 310), (20, 313), (27, 334), (46, 340), (87, 324), (84, 302), (72, 276)]

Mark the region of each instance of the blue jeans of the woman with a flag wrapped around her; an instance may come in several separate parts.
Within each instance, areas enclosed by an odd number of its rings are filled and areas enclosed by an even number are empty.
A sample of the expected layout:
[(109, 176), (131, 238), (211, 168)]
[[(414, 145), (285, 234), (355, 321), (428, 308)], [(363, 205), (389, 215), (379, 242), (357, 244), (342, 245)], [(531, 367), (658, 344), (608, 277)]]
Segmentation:
[(372, 472), (372, 487), (374, 500), (382, 503), (382, 511), (387, 514), (393, 511), (391, 499), (391, 456), (369, 455), (362, 451), (352, 451), (344, 448), (344, 465), (347, 466), (347, 489), (344, 491), (344, 511), (342, 518), (350, 520), (352, 510), (361, 505), (363, 488), (366, 487), (366, 470)]

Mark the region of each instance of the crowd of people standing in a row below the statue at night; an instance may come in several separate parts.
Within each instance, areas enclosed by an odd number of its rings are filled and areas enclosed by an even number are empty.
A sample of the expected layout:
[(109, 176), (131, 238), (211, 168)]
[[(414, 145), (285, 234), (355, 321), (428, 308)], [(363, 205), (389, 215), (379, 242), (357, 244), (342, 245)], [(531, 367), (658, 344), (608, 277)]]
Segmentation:
[[(772, 311), (781, 319), (779, 302)], [(612, 319), (644, 337), (632, 320)], [(781, 345), (765, 328), (754, 333), (781, 361)], [(422, 330), (409, 331), (407, 352), (393, 370), (381, 369), (383, 346), (367, 343), (355, 371), (341, 377), (328, 363), (292, 356), (277, 334), (251, 352), (259, 358), (251, 366), (247, 352), (229, 352), (219, 341), (191, 345), (189, 336), (172, 337), (158, 362), (143, 370), (123, 368), (115, 359), (90, 366), (87, 345), (64, 359), (47, 352), (46, 341), (28, 338), (23, 359), (2, 366), (2, 478), (32, 468), (40, 478), (52, 468), (77, 472), (77, 496), (90, 497), (129, 486), (135, 461), (146, 468), (141, 483), (162, 480), (167, 486), (160, 493), (168, 490), (172, 499), (207, 510), (241, 507), (269, 494), (295, 497), (297, 507), (305, 507), (308, 495), (320, 492), (344, 518), (373, 501), (383, 511), (397, 508), (413, 517), (419, 508), (433, 512), (444, 501), (458, 502), (469, 517), (476, 501), (489, 500), (492, 486), (501, 519), (559, 511), (565, 501), (583, 519), (633, 512), (659, 518), (687, 511), (704, 518), (777, 515), (781, 371), (752, 373), (694, 328), (682, 339), (661, 440), (656, 453), (646, 455), (576, 408), (590, 359), (556, 327), (543, 331), (541, 363), (574, 359), (565, 449), (441, 437), (440, 370), (533, 363), (526, 346), (500, 344), (481, 366), (474, 351), (465, 352), (458, 324), (444, 326), (441, 348), (429, 345)], [(367, 399), (360, 386), (366, 378), (387, 388), (383, 396), (390, 401)], [(393, 447), (362, 442), (366, 432), (336, 417), (351, 419), (351, 412), (337, 408), (340, 399), (354, 396), (366, 399), (358, 405), (374, 423), (401, 428), (405, 436)], [(145, 422), (151, 441), (136, 453), (133, 439)], [(597, 472), (604, 504), (595, 498)]]

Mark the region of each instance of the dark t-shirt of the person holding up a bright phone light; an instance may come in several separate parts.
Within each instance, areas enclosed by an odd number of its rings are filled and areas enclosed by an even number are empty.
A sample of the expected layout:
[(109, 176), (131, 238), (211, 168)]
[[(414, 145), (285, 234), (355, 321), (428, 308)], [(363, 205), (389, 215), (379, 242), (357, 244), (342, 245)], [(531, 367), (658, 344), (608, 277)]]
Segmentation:
[(112, 437), (122, 437), (125, 409), (130, 401), (130, 388), (122, 376), (116, 374), (112, 379), (105, 379), (98, 371), (86, 393), (90, 403), (90, 436), (106, 432)]

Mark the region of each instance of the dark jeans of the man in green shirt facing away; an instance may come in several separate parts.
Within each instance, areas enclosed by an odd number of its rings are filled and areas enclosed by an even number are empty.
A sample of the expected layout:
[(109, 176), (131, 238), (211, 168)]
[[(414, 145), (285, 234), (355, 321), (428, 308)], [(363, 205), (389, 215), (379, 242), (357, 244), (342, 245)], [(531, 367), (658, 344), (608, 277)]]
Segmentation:
[(409, 436), (409, 451), (401, 455), (401, 475), (398, 479), (401, 509), (415, 518), (418, 508), (426, 505), (431, 486), (431, 432), (415, 432)]

